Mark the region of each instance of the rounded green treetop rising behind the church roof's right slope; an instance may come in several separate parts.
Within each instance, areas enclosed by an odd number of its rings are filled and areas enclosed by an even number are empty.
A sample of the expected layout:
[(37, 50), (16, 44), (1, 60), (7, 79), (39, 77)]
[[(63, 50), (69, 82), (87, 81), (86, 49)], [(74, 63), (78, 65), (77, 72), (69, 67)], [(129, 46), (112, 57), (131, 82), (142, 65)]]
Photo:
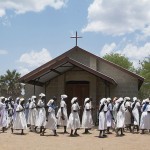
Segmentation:
[(113, 62), (129, 71), (135, 72), (135, 68), (133, 67), (133, 63), (129, 61), (127, 57), (118, 53), (110, 53), (106, 54), (104, 59)]

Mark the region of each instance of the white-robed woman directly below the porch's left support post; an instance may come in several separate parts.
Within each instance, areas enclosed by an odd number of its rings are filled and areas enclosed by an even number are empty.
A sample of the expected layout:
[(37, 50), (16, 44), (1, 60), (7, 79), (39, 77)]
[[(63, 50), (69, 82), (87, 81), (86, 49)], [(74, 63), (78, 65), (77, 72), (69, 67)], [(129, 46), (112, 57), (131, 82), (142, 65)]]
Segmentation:
[(31, 102), (29, 104), (29, 114), (28, 114), (28, 121), (27, 123), (30, 125), (30, 131), (32, 132), (34, 130), (34, 127), (36, 125), (36, 96), (31, 97)]

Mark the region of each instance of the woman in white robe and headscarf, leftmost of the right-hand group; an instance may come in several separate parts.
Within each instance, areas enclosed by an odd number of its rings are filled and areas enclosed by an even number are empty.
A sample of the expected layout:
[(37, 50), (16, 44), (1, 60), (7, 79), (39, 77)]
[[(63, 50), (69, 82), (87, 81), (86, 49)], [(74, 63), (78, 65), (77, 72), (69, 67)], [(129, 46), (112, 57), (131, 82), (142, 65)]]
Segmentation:
[(99, 105), (99, 138), (106, 137), (105, 130), (107, 129), (107, 122), (106, 122), (106, 112), (107, 112), (107, 104), (106, 98), (102, 98)]

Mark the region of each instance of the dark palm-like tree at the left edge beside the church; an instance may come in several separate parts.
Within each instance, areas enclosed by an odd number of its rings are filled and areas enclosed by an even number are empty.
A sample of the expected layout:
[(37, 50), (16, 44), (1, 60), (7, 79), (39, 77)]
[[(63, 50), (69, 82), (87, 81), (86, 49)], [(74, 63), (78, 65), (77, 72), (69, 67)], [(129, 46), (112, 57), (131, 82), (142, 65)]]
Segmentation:
[(20, 95), (20, 74), (16, 71), (7, 70), (6, 74), (0, 76), (1, 95), (18, 96)]

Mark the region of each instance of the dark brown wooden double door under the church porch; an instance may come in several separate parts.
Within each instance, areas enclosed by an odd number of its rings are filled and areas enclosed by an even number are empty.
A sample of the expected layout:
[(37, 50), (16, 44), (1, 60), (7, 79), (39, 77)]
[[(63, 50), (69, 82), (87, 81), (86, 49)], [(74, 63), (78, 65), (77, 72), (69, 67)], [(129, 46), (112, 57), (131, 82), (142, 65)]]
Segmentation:
[(82, 119), (84, 100), (89, 97), (89, 82), (88, 81), (69, 81), (66, 82), (65, 93), (68, 95), (67, 98), (67, 111), (68, 115), (71, 112), (71, 99), (73, 97), (78, 97), (79, 106), (81, 106), (79, 115)]

